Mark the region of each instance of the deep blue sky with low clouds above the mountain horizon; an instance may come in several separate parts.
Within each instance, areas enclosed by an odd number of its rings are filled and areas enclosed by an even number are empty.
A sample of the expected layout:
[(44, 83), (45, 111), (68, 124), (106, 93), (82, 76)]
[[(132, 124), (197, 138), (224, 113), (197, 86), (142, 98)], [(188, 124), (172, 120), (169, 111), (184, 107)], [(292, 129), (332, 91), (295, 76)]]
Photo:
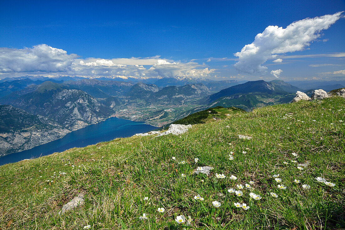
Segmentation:
[[(0, 78), (26, 74), (122, 74), (219, 80), (344, 79), (344, 13), (326, 25), (326, 29), (322, 25), (316, 27), (319, 36), (306, 40), (304, 47), (278, 53), (277, 59), (282, 62), (274, 63), (269, 57), (258, 67), (258, 63), (252, 63), (253, 59), (262, 58), (258, 54), (254, 58), (246, 53), (234, 56), (268, 26), (285, 29), (294, 21), (334, 15), (343, 10), (345, 1), (336, 0), (2, 1)], [(291, 36), (295, 36), (293, 33)], [(270, 39), (274, 39), (274, 34), (269, 34)], [(256, 45), (260, 49), (266, 49), (264, 43), (270, 43), (260, 42)], [(61, 50), (67, 52), (64, 57), (49, 56)], [(34, 58), (30, 54), (31, 59), (24, 60), (18, 53), (32, 53)], [(234, 67), (239, 59), (243, 64)], [(109, 60), (114, 64), (109, 64)], [(161, 64), (157, 64), (159, 60)], [(79, 64), (80, 61), (84, 64)], [(17, 63), (14, 67), (13, 62)], [(25, 64), (21, 67), (22, 63)], [(279, 74), (278, 70), (281, 70)]]

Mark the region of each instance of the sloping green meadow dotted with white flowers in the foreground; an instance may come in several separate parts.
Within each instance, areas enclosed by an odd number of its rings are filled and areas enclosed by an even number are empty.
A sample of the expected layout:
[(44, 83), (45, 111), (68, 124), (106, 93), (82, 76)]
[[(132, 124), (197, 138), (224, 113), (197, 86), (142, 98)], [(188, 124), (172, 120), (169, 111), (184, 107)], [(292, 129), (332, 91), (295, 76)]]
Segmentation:
[[(193, 219), (186, 229), (345, 228), (344, 113), (344, 98), (280, 104), (197, 124), (181, 136), (118, 138), (4, 165), (0, 227), (168, 230), (180, 229), (175, 217), (184, 214)], [(240, 140), (238, 134), (253, 139)], [(230, 152), (234, 160), (228, 159)], [(300, 171), (291, 160), (310, 164)], [(209, 177), (195, 175), (197, 166), (214, 170)], [(59, 171), (67, 174), (54, 176)], [(215, 173), (226, 178), (216, 179)], [(286, 190), (277, 188), (272, 177), (277, 173)], [(315, 180), (321, 176), (335, 187)], [(250, 198), (248, 189), (242, 197), (227, 192), (249, 181), (261, 200)], [(59, 216), (62, 205), (79, 192), (86, 194), (85, 205)], [(196, 194), (205, 200), (194, 200)], [(221, 203), (217, 209), (215, 200)], [(236, 208), (234, 202), (250, 208)], [(165, 212), (158, 213), (159, 207)], [(139, 220), (142, 213), (147, 220)]]

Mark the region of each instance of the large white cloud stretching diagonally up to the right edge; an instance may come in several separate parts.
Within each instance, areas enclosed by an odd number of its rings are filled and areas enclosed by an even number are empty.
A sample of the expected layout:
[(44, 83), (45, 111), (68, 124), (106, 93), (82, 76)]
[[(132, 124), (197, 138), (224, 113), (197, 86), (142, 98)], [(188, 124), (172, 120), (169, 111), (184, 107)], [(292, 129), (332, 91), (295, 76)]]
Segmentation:
[(327, 14), (321, 17), (306, 18), (289, 24), (285, 29), (268, 26), (256, 35), (253, 43), (245, 45), (235, 53), (238, 62), (234, 67), (240, 72), (265, 73), (267, 67), (262, 66), (276, 54), (295, 52), (305, 49), (310, 43), (321, 36), (322, 30), (328, 29), (342, 17), (343, 12)]

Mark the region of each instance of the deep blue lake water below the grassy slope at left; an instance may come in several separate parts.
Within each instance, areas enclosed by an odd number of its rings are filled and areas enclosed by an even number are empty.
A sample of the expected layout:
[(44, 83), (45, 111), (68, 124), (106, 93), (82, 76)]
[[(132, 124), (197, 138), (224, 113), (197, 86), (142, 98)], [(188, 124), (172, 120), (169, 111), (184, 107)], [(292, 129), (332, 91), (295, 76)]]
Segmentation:
[(29, 150), (0, 157), (0, 165), (18, 162), (32, 157), (46, 156), (74, 147), (85, 147), (90, 144), (110, 141), (119, 137), (130, 137), (136, 133), (149, 132), (154, 129), (157, 129), (157, 127), (144, 122), (112, 117), (98, 124), (91, 124), (83, 129), (70, 132), (61, 139), (41, 144)]

